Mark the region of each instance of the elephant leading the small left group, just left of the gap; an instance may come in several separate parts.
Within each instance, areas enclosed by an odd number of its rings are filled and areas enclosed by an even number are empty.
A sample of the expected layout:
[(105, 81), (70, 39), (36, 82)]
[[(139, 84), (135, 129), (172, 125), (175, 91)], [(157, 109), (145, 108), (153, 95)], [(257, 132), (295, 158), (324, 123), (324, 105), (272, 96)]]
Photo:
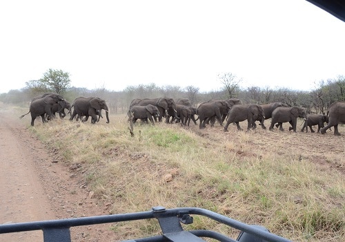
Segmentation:
[(88, 120), (88, 117), (91, 116), (91, 123), (95, 124), (95, 122), (97, 122), (97, 115), (99, 115), (101, 109), (104, 109), (106, 111), (106, 123), (109, 123), (108, 106), (106, 104), (106, 101), (99, 97), (77, 97), (72, 106), (74, 106), (74, 110), (70, 117), (70, 120), (73, 120), (76, 115), (78, 115), (79, 118), (86, 116), (85, 120), (82, 120), (85, 122), (86, 120)]

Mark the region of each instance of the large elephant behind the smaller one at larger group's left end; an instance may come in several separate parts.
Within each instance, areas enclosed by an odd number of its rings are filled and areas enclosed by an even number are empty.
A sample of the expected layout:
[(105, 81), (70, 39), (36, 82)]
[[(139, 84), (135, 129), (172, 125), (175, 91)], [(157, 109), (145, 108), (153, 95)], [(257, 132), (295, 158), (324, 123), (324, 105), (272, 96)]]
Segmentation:
[(166, 118), (167, 113), (169, 113), (169, 116), (171, 115), (173, 117), (176, 116), (176, 104), (175, 104), (175, 101), (170, 97), (159, 97), (159, 98), (154, 98), (154, 99), (149, 99), (149, 98), (135, 99), (135, 100), (132, 100), (132, 102), (130, 103), (130, 108), (135, 105), (146, 106), (148, 104), (157, 106), (159, 110), (159, 117), (158, 117), (159, 122), (161, 122), (163, 117)]

